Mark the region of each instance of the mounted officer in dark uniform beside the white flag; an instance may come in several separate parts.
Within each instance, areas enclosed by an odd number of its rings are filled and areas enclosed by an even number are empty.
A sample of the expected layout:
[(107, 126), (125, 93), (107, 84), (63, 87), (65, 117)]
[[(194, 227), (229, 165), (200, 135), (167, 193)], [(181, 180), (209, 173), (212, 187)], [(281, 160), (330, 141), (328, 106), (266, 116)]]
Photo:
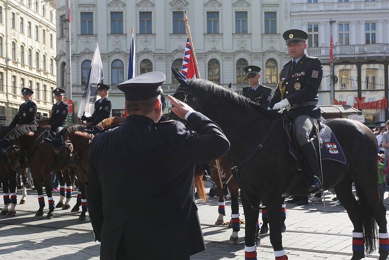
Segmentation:
[(81, 121), (87, 121), (88, 127), (94, 127), (104, 119), (108, 118), (111, 114), (112, 104), (107, 98), (109, 86), (103, 83), (97, 84), (97, 92), (101, 97), (94, 102), (94, 112), (91, 116), (81, 116)]

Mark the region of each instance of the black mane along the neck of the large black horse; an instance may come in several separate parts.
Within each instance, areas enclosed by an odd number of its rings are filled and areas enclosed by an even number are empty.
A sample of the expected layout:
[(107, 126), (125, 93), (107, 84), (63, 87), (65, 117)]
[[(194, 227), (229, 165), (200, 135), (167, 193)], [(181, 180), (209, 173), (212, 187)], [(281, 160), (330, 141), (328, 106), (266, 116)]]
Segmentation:
[(195, 91), (201, 90), (202, 92), (225, 98), (227, 99), (226, 102), (228, 102), (228, 104), (235, 105), (242, 111), (248, 112), (250, 109), (254, 108), (263, 115), (268, 113), (268, 111), (266, 111), (266, 109), (260, 104), (252, 102), (247, 97), (234, 92), (230, 88), (222, 87), (212, 81), (201, 78), (194, 78), (188, 80), (186, 84)]

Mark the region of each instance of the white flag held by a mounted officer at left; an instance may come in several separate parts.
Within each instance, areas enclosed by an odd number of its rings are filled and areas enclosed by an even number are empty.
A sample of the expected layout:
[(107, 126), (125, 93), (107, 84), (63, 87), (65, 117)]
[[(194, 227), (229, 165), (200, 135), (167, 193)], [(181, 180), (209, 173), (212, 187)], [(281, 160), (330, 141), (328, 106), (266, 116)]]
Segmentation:
[(102, 82), (103, 63), (101, 62), (99, 45), (96, 42), (96, 50), (89, 68), (87, 84), (78, 109), (78, 118), (81, 118), (84, 114), (85, 116), (90, 116), (93, 113), (94, 102), (100, 99), (100, 96), (97, 94), (97, 84)]

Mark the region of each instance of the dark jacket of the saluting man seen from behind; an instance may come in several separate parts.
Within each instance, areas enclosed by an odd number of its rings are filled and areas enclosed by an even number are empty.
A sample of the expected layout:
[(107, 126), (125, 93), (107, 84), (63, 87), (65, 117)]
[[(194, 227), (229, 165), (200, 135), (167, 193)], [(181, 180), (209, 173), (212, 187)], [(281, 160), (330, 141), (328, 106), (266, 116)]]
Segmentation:
[(94, 137), (86, 192), (101, 260), (185, 260), (206, 249), (194, 165), (220, 158), (230, 143), (201, 113), (188, 122), (196, 132), (178, 121), (131, 115)]

